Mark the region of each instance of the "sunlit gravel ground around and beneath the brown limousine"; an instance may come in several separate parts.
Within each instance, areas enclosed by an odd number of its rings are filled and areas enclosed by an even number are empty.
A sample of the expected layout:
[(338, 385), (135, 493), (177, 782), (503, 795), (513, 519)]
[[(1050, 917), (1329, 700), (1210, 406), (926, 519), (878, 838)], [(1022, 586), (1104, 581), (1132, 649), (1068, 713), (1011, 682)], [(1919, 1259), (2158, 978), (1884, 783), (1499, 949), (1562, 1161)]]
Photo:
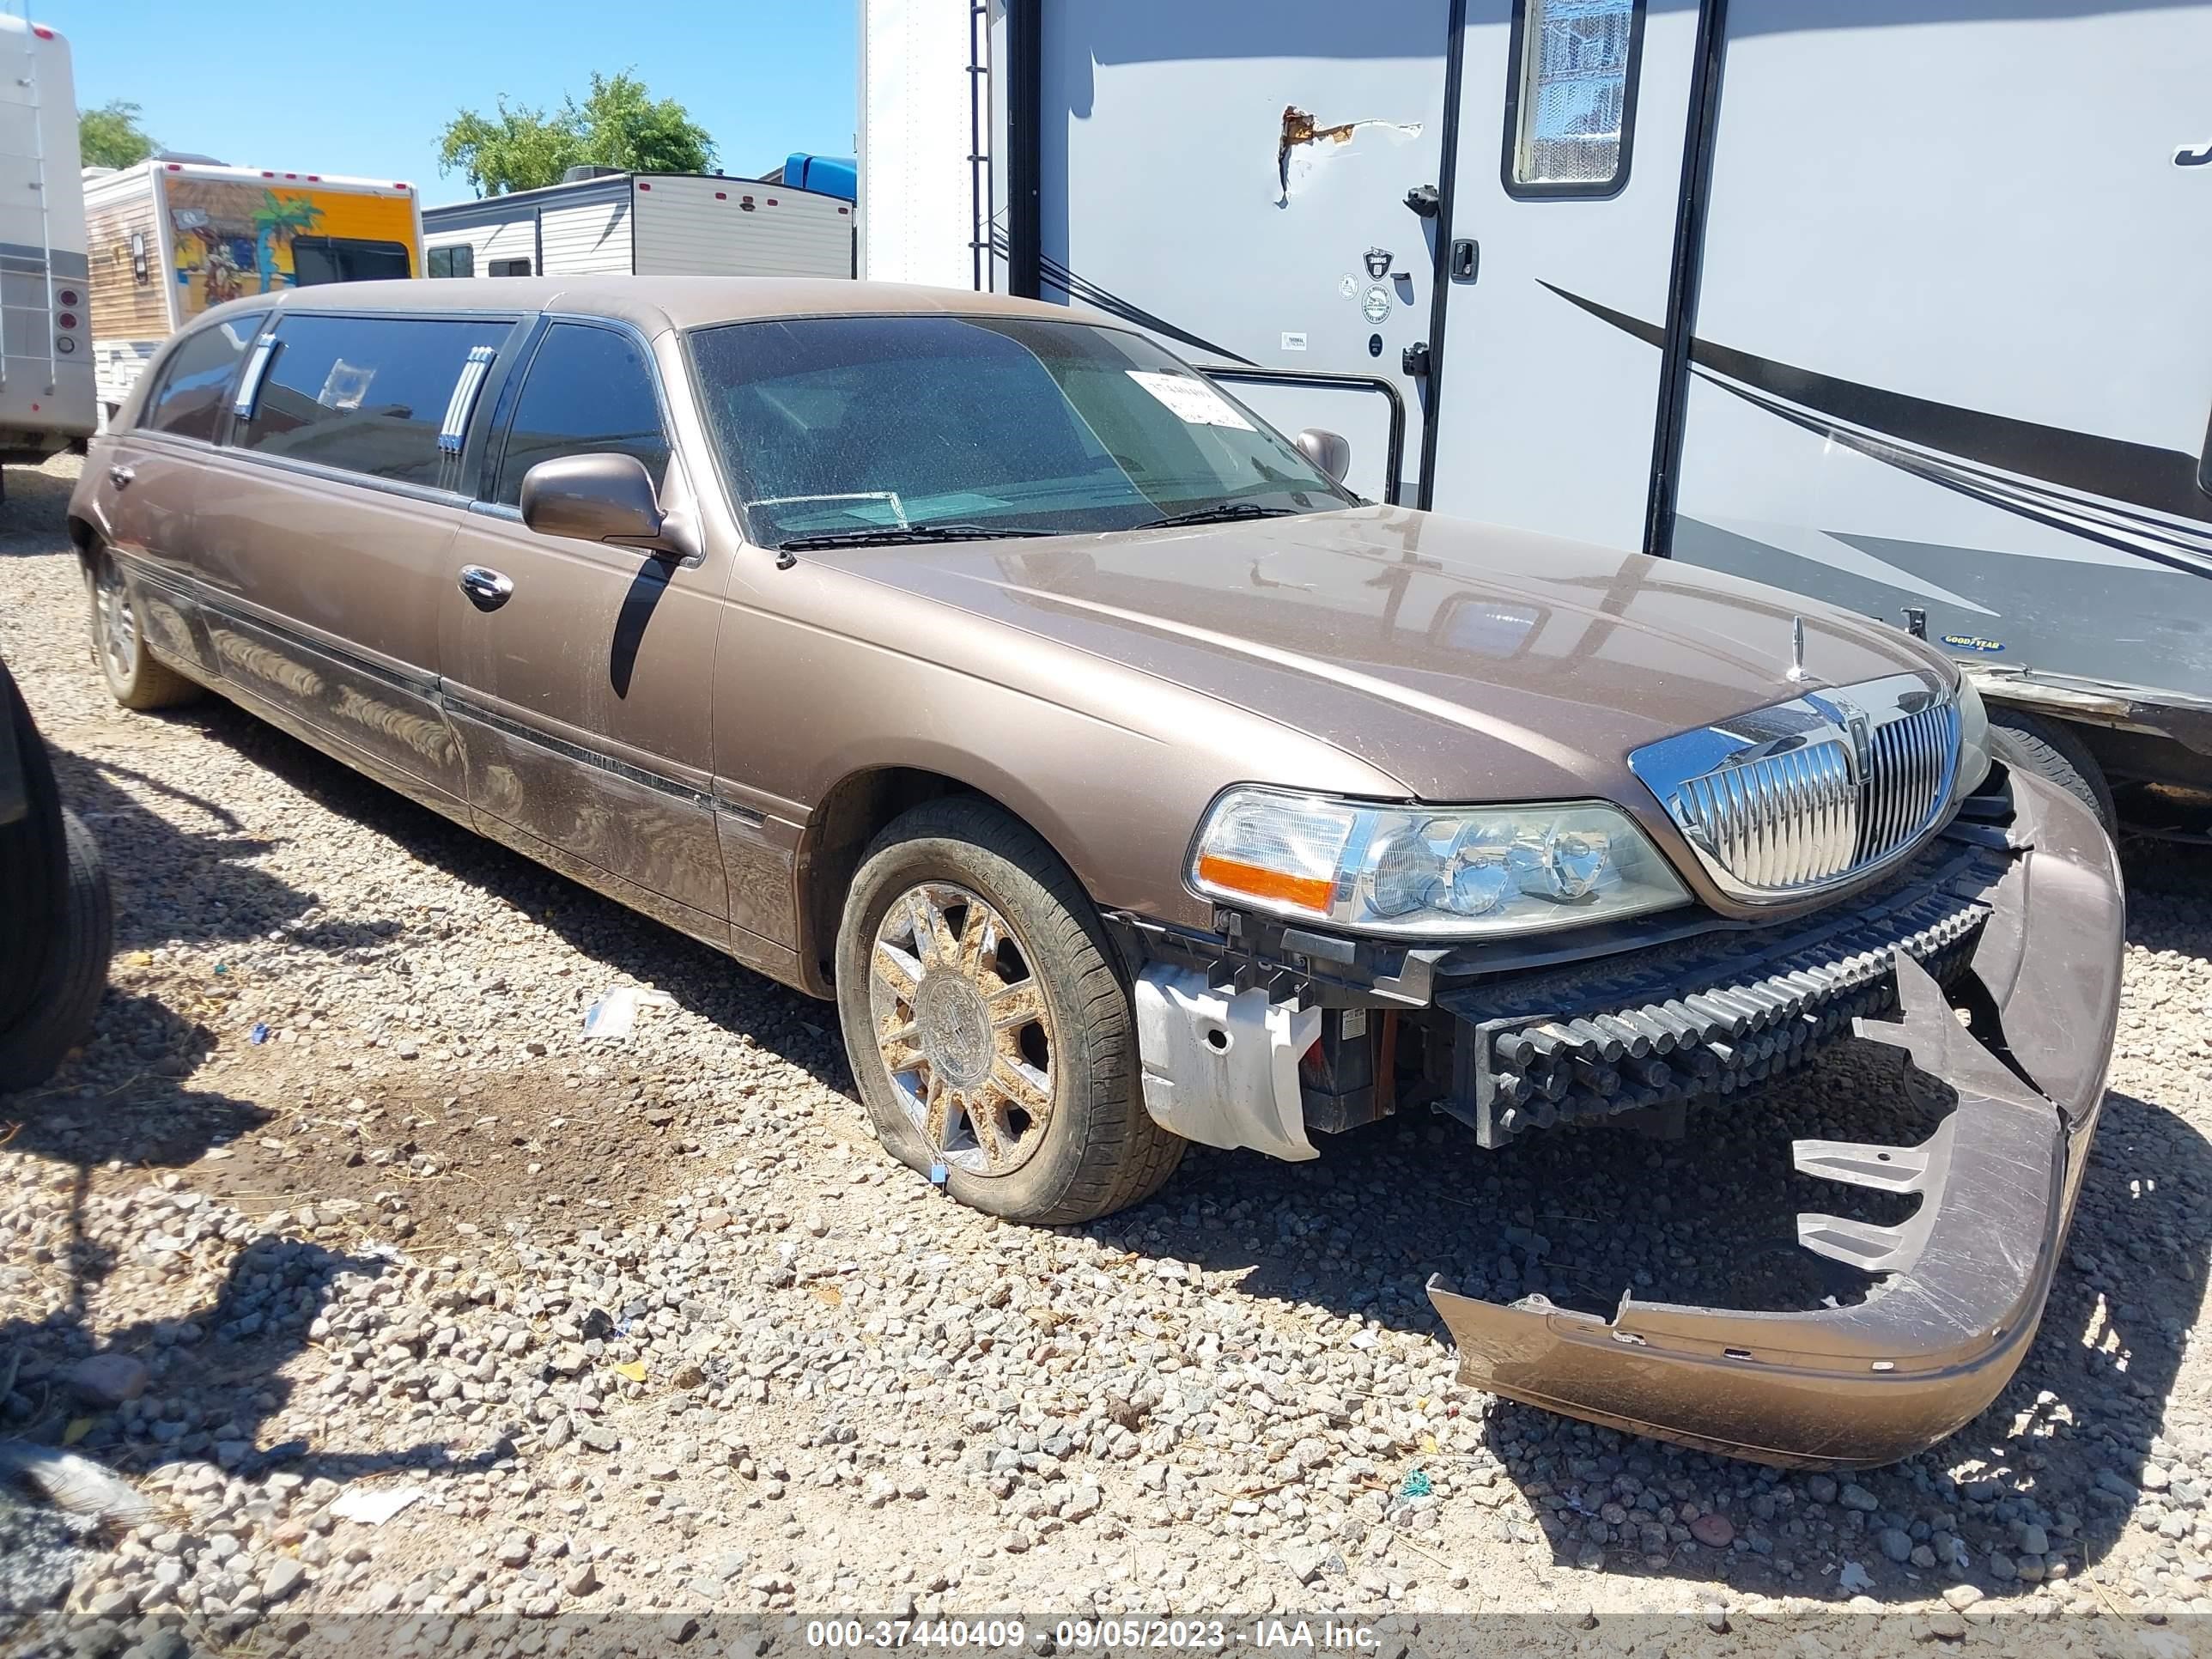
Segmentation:
[[(38, 1546), (144, 1652), (338, 1613), (2212, 1610), (2203, 852), (2128, 852), (2112, 1095), (2020, 1376), (1909, 1462), (1776, 1473), (1458, 1387), (1422, 1283), (1803, 1305), (1790, 1219), (1851, 1194), (1787, 1139), (1924, 1133), (1887, 1051), (1683, 1141), (1407, 1117), (998, 1225), (880, 1155), (825, 1004), (228, 703), (115, 708), (71, 471), (9, 469), (0, 653), (117, 958), (84, 1051), (0, 1099), (0, 1436), (157, 1504)], [(617, 984), (675, 1009), (582, 1044)]]

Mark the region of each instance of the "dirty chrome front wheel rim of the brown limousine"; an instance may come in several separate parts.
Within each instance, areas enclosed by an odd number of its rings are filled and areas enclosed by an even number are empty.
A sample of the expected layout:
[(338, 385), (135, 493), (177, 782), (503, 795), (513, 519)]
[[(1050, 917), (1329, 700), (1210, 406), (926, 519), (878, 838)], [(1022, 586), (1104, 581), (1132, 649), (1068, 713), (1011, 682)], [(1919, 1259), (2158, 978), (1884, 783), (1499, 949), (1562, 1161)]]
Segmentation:
[(953, 883), (909, 887), (876, 929), (867, 998), (931, 1157), (969, 1175), (1022, 1168), (1053, 1119), (1060, 1042), (1006, 918)]

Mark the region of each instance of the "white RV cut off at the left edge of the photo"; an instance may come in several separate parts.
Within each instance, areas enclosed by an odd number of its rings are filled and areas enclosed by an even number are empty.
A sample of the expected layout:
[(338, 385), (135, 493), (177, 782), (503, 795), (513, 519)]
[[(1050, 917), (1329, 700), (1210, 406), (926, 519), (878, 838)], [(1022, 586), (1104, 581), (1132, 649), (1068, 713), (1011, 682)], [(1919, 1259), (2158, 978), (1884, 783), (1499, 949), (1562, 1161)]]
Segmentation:
[(69, 42), (0, 13), (0, 458), (91, 436), (91, 338)]

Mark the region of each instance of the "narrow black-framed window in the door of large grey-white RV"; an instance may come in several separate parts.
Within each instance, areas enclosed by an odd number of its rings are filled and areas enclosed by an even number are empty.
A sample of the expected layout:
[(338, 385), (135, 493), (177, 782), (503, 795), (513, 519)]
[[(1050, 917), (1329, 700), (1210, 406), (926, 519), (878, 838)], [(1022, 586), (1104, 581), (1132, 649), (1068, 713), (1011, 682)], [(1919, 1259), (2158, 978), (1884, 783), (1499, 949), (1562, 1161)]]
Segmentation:
[(1613, 195), (1628, 181), (1644, 0), (1520, 0), (1506, 71), (1506, 190)]

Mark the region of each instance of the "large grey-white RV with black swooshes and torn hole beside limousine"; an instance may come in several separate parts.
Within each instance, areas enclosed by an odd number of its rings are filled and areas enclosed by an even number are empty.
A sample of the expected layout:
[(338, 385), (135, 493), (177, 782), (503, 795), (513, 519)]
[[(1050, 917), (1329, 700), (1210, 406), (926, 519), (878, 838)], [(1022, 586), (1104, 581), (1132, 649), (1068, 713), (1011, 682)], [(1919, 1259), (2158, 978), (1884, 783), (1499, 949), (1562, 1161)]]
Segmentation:
[(1104, 307), (1345, 434), (1367, 495), (1887, 617), (2077, 770), (2212, 781), (2212, 4), (860, 0), (860, 35), (865, 276)]

